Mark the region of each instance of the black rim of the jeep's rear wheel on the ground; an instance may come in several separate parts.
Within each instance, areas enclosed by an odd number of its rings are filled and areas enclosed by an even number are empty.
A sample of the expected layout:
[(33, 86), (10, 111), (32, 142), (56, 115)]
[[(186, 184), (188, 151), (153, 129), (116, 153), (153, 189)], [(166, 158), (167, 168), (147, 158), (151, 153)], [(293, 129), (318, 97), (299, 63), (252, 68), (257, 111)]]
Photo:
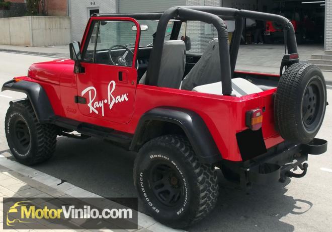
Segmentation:
[(167, 163), (152, 166), (149, 186), (156, 199), (165, 206), (177, 206), (183, 201), (183, 181), (179, 172)]

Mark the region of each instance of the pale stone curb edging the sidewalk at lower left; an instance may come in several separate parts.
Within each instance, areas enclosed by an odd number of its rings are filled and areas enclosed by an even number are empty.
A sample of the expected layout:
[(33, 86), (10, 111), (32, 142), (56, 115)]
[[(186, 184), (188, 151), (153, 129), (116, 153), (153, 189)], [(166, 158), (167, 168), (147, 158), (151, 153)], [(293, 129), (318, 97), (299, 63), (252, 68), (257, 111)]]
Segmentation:
[[(62, 183), (62, 181), (58, 178), (50, 176), (46, 173), (40, 172), (28, 166), (22, 165), (16, 161), (12, 161), (7, 157), (11, 157), (12, 155), (9, 152), (5, 152), (0, 155), (0, 165), (10, 169), (12, 172), (17, 173), (21, 177), (24, 177), (24, 181), (31, 185), (31, 182), (41, 183), (46, 188), (54, 189), (50, 195), (54, 197), (63, 197), (63, 196), (72, 196), (75, 198), (89, 198), (89, 197), (102, 197), (95, 193), (89, 192), (85, 189), (79, 188), (74, 186), (68, 182)], [(15, 177), (15, 176), (14, 176)], [(62, 183), (62, 184), (60, 184)], [(39, 185), (39, 187), (42, 187)], [(44, 188), (43, 188), (44, 189)], [(43, 191), (43, 190), (41, 190)], [(49, 192), (45, 191), (45, 192)], [(131, 231), (170, 231), (170, 232), (180, 232), (185, 230), (173, 229), (171, 227), (165, 226), (152, 217), (145, 215), (144, 213), (138, 212), (138, 230), (131, 230)], [(126, 231), (126, 230), (125, 230)]]

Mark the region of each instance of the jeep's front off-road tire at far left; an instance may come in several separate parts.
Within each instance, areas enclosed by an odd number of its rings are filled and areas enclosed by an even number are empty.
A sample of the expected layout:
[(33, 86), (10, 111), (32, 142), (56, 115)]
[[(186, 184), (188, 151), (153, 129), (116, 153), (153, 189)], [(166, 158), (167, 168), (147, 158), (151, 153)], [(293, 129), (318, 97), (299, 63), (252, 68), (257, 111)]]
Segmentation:
[[(17, 124), (20, 124), (17, 126)], [(21, 132), (22, 127), (27, 131)], [(41, 124), (29, 100), (14, 102), (5, 118), (6, 138), (16, 160), (24, 165), (35, 165), (50, 159), (56, 147), (56, 126)], [(18, 138), (21, 135), (21, 138)], [(25, 144), (20, 140), (25, 138)]]

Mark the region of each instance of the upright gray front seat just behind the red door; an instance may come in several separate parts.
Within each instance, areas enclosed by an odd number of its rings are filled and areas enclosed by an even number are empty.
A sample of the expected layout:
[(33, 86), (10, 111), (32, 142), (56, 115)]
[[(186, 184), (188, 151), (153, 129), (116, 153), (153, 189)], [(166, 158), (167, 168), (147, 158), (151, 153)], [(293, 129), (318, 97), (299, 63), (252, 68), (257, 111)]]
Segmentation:
[[(158, 87), (179, 89), (186, 66), (186, 45), (182, 40), (169, 40), (163, 44)], [(139, 80), (145, 84), (146, 72)]]

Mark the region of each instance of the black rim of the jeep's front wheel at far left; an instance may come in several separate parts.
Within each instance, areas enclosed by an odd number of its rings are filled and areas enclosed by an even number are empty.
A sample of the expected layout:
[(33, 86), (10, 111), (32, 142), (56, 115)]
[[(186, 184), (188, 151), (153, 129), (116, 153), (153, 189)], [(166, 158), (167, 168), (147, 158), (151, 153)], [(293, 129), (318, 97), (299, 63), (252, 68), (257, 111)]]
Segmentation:
[(20, 153), (26, 153), (30, 148), (30, 131), (27, 123), (18, 119), (14, 124), (14, 143)]

